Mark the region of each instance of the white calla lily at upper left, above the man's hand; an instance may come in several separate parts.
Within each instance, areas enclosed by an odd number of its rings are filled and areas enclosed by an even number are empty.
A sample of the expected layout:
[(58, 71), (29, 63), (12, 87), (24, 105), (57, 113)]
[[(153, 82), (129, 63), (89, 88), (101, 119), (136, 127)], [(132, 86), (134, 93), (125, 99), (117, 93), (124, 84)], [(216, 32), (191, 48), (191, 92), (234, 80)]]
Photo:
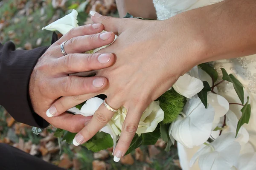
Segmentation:
[(73, 9), (70, 14), (58, 19), (57, 21), (49, 24), (48, 26), (42, 28), (42, 30), (46, 29), (49, 31), (59, 31), (61, 34), (66, 34), (72, 28), (78, 27), (78, 21), (76, 20), (78, 12)]

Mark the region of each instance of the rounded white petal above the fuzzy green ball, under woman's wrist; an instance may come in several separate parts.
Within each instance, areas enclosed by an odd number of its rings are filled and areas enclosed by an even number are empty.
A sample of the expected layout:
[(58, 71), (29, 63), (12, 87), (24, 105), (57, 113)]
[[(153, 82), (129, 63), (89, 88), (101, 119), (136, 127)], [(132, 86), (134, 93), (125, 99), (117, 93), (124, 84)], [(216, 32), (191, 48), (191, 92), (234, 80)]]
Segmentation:
[(186, 98), (191, 99), (192, 96), (198, 94), (203, 88), (203, 82), (200, 79), (184, 74), (180, 76), (177, 82), (172, 86), (175, 91)]

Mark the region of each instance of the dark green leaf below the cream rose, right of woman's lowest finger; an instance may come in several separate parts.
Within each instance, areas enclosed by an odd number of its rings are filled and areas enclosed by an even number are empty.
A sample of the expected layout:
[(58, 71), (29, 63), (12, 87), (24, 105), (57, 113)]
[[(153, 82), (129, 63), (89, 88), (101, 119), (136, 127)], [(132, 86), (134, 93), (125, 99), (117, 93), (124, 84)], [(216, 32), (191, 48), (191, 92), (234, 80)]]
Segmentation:
[(128, 148), (125, 155), (131, 153), (131, 151), (135, 150), (141, 145), (151, 145), (151, 144), (157, 143), (157, 140), (159, 139), (159, 137), (160, 137), (159, 125), (153, 132), (142, 133), (140, 136), (138, 136), (138, 134), (135, 134), (134, 138), (131, 141), (130, 147)]

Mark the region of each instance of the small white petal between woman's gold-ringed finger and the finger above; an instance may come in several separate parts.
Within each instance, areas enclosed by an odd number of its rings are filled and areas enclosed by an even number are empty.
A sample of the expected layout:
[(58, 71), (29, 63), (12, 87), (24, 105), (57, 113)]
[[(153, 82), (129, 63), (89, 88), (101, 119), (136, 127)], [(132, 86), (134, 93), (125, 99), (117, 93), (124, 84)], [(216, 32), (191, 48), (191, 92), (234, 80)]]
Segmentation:
[(81, 108), (81, 114), (84, 116), (93, 116), (98, 110), (99, 106), (103, 103), (103, 100), (99, 97), (93, 97), (88, 99)]

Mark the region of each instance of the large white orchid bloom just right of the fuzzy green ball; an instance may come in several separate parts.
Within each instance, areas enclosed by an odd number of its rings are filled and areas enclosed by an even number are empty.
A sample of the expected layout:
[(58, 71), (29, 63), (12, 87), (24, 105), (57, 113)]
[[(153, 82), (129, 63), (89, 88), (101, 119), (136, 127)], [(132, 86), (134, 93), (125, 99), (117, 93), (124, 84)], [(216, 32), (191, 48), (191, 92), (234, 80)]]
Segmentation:
[(172, 122), (169, 135), (187, 148), (199, 146), (209, 139), (214, 118), (214, 108), (208, 105), (205, 109), (198, 96), (186, 102), (182, 116)]

